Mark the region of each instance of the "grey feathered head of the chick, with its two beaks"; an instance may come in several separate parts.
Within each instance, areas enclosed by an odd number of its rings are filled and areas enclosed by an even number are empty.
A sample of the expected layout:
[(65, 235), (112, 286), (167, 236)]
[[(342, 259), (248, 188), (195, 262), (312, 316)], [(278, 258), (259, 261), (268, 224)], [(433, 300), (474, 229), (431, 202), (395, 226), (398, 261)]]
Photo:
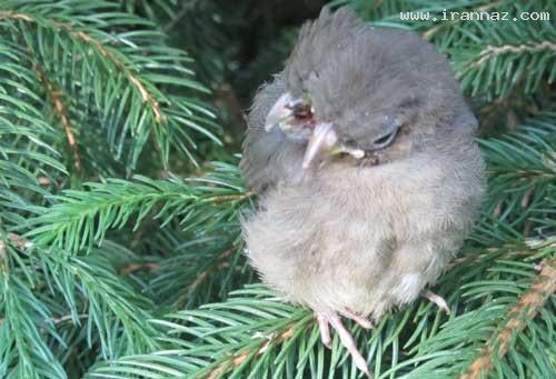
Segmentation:
[(285, 81), (265, 129), (306, 140), (304, 168), (326, 157), (394, 161), (476, 127), (443, 54), (347, 9), (304, 26)]

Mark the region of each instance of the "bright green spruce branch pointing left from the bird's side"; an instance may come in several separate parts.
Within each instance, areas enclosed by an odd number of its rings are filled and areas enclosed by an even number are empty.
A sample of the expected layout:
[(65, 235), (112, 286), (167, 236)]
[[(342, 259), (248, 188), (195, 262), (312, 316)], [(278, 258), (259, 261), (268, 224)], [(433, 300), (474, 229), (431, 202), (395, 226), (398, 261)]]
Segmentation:
[[(236, 167), (214, 163), (216, 170), (203, 178), (152, 180), (136, 176), (133, 181), (109, 179), (106, 183), (86, 183), (91, 191), (64, 191), (52, 197), (57, 206), (43, 209), (43, 215), (30, 220), (34, 229), (27, 233), (42, 246), (78, 251), (101, 243), (110, 228), (121, 228), (131, 218), (139, 226), (157, 205), (155, 219), (162, 227), (179, 218), (191, 228), (236, 219), (239, 208), (252, 196), (245, 190)], [(190, 184), (189, 184), (190, 183)]]

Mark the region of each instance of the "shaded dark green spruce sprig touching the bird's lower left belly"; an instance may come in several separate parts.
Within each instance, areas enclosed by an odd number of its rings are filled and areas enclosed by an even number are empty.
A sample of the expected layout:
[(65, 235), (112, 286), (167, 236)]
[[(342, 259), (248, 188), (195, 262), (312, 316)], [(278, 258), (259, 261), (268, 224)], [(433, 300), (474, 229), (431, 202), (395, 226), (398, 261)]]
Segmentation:
[(158, 268), (142, 291), (158, 303), (191, 309), (222, 301), (231, 290), (254, 280), (237, 221), (219, 221), (210, 232), (203, 227), (180, 231), (175, 223), (149, 239), (147, 250)]

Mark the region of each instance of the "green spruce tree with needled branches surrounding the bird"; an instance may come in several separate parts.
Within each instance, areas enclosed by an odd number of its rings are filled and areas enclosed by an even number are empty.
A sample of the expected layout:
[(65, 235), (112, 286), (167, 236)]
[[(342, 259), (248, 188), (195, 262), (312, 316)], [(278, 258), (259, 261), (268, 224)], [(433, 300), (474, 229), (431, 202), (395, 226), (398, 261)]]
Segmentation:
[[(322, 6), (308, 3), (0, 1), (0, 378), (361, 376), (258, 282), (239, 228), (257, 202), (240, 110)], [(425, 300), (350, 325), (370, 370), (556, 377), (556, 3), (331, 6), (449, 57), (488, 163), (481, 218), (435, 286), (451, 315)]]

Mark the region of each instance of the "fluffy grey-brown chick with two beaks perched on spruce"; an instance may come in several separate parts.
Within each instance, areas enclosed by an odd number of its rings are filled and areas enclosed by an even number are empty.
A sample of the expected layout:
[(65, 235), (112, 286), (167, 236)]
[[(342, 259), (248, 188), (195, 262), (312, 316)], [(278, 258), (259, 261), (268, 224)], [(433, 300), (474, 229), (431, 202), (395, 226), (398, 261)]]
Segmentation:
[[(369, 329), (424, 296), (460, 250), (486, 189), (478, 121), (447, 58), (416, 33), (325, 7), (247, 113), (241, 220), (250, 265), (310, 308), (355, 365)], [(330, 329), (331, 328), (331, 329)]]

